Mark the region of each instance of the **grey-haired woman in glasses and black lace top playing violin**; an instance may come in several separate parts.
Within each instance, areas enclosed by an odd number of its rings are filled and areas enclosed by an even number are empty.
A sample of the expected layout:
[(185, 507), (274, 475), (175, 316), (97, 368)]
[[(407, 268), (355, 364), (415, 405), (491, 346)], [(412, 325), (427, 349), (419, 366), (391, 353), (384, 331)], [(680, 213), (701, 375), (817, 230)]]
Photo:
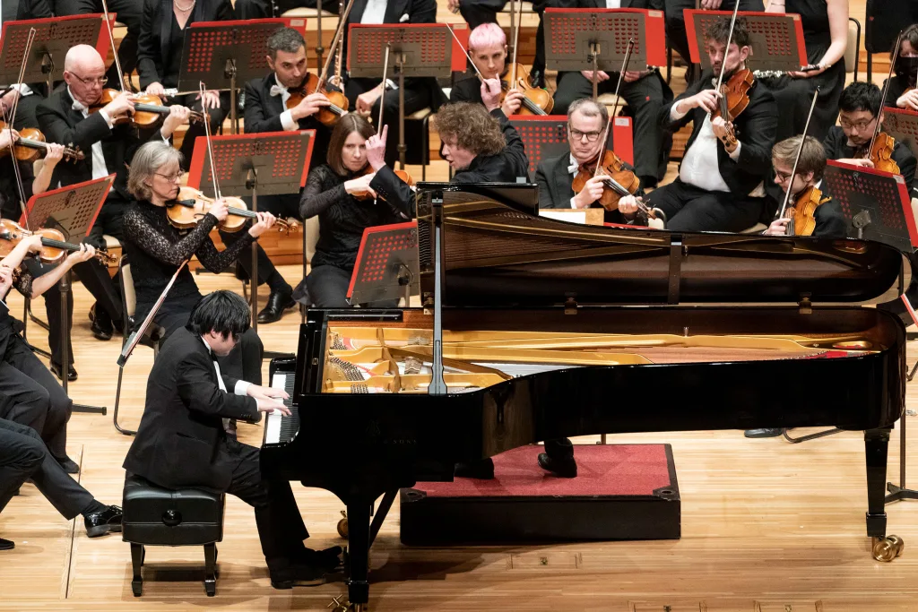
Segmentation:
[[(181, 161), (182, 154), (169, 145), (148, 142), (140, 147), (130, 165), (129, 189), (138, 201), (124, 214), (124, 250), (130, 258), (137, 293), (135, 325), (140, 325), (147, 316), (176, 268), (185, 260), (196, 255), (207, 270), (222, 272), (236, 260), (243, 248), (274, 226), (275, 219), (271, 213), (258, 213), (258, 222), (242, 239), (218, 251), (209, 233), (228, 214), (226, 202), (218, 200), (201, 217), (196, 228), (174, 228), (170, 225), (166, 207), (178, 195), (182, 178)], [(165, 338), (185, 326), (192, 307), (200, 298), (195, 276), (185, 266), (153, 318), (165, 329)], [(237, 377), (260, 384), (262, 354), (262, 342), (250, 329), (226, 359), (234, 364), (232, 367), (236, 374), (245, 374)], [(224, 372), (227, 372), (226, 368)]]

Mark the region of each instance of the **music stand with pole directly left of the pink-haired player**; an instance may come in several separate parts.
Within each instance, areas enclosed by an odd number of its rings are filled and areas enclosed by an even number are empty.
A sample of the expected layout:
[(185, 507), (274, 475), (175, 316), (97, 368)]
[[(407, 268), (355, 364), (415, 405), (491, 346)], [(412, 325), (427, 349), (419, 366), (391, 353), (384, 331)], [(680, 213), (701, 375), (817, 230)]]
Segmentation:
[(390, 46), (389, 63), (398, 75), (398, 165), (404, 170), (408, 150), (405, 146), (405, 78), (452, 76), (453, 35), (449, 26), (442, 23), (351, 24), (347, 43), (348, 74), (353, 78), (380, 78), (387, 45)]

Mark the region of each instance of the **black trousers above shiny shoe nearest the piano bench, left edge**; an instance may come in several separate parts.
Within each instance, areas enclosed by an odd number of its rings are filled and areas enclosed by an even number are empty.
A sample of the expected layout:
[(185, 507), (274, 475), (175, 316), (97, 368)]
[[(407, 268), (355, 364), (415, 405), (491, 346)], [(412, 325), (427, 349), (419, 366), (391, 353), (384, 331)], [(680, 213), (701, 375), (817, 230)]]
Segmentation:
[(0, 512), (28, 478), (68, 520), (95, 504), (93, 495), (54, 461), (35, 429), (0, 418)]

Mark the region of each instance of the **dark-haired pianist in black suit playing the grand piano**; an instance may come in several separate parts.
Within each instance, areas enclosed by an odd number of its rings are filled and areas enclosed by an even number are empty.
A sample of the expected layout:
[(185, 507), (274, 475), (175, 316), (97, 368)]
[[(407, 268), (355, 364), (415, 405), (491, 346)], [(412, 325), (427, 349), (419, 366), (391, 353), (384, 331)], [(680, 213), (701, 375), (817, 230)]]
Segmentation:
[(240, 295), (215, 291), (201, 298), (187, 327), (166, 340), (153, 363), (124, 469), (165, 488), (238, 496), (255, 508), (274, 588), (321, 584), (338, 565), (341, 549), (319, 552), (303, 546), (309, 534), (290, 483), (264, 480), (259, 450), (231, 433), (230, 419), (255, 422), (275, 410), (289, 415), (283, 390), (220, 373), (217, 357), (232, 351), (249, 323), (249, 306)]

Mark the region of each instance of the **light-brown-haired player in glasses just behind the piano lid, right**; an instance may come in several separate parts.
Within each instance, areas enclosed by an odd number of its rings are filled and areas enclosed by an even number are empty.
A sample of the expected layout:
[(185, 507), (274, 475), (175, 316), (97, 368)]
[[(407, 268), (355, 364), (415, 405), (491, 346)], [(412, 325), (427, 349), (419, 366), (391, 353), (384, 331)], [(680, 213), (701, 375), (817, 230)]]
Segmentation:
[[(773, 200), (773, 206), (777, 209), (784, 202), (784, 195), (790, 190), (788, 206), (801, 207), (806, 206), (806, 203), (800, 200), (805, 199), (804, 196), (810, 196), (811, 188), (819, 190), (820, 204), (815, 205), (813, 215), (816, 220), (816, 228), (811, 235), (819, 238), (845, 238), (847, 222), (842, 214), (842, 206), (823, 189), (825, 149), (822, 143), (812, 136), (806, 137), (803, 141), (803, 149), (800, 150), (797, 174), (794, 175), (793, 183), (791, 183), (790, 174), (793, 172), (798, 149), (800, 149), (800, 136), (781, 140), (772, 148), (771, 164), (775, 169), (775, 177), (770, 184), (767, 184), (768, 197)], [(788, 218), (775, 219), (764, 233), (768, 236), (787, 236), (788, 222)]]

